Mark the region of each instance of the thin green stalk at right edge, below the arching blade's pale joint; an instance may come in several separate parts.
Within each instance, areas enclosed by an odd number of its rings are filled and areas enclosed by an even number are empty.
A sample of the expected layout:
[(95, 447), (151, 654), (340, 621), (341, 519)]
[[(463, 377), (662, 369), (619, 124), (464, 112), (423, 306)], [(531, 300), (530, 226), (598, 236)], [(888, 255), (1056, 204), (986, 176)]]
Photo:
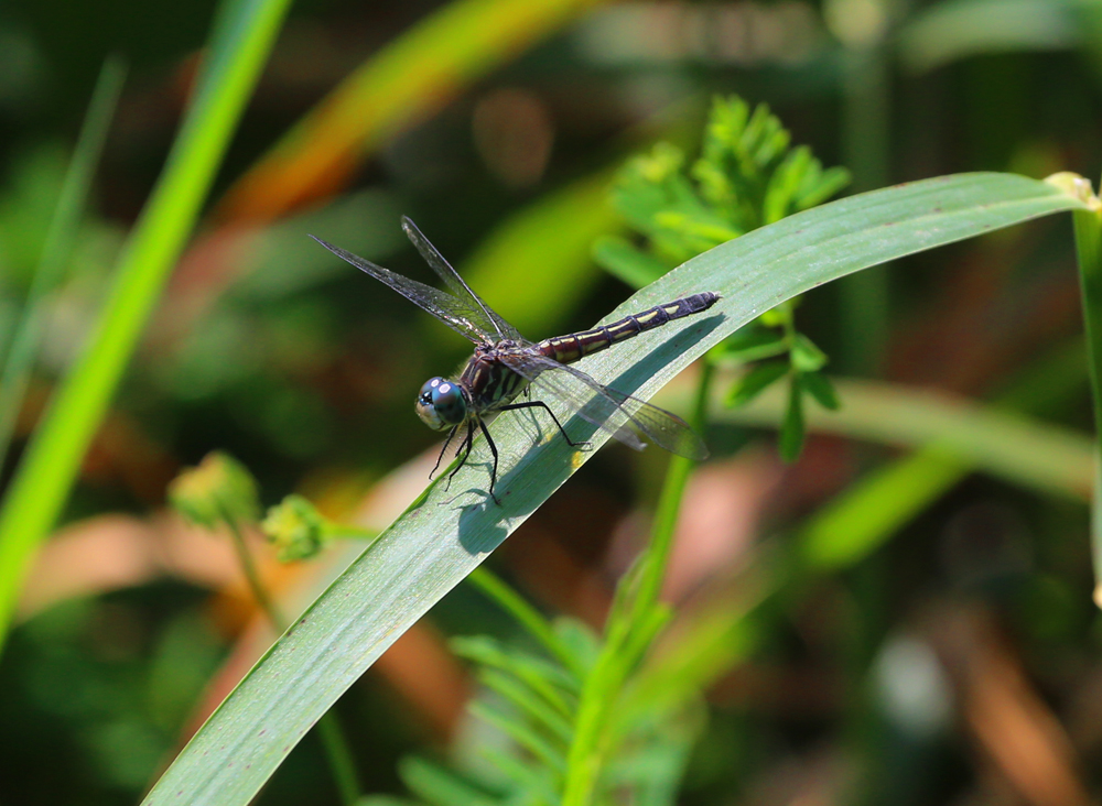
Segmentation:
[[(1091, 209), (1076, 210), (1076, 254), (1079, 284), (1083, 298), (1083, 327), (1087, 331), (1087, 366), (1090, 370), (1091, 397), (1094, 403), (1095, 439), (1102, 440), (1102, 204), (1091, 196)], [(1102, 449), (1096, 445), (1094, 494), (1091, 508), (1091, 556), (1094, 560), (1094, 601), (1102, 607)]]

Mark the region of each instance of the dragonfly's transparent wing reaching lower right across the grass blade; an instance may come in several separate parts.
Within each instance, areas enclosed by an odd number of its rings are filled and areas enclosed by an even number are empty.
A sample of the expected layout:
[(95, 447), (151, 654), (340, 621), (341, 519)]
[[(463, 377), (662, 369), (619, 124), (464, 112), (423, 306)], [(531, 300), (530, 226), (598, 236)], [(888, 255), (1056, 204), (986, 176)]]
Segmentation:
[(676, 414), (602, 385), (581, 370), (545, 356), (518, 352), (503, 356), (501, 361), (529, 380), (533, 396), (561, 401), (571, 413), (636, 450), (646, 444), (633, 428), (671, 454), (698, 461), (707, 458), (704, 442)]

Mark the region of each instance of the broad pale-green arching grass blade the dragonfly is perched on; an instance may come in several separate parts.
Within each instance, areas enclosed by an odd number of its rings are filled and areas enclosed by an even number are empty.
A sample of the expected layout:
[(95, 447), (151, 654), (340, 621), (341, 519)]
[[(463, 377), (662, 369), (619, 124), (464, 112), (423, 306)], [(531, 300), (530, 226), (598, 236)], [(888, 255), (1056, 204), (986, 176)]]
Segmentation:
[[(646, 397), (763, 311), (817, 285), (1000, 227), (1084, 208), (1058, 187), (1005, 174), (949, 176), (834, 202), (716, 247), (640, 291), (608, 320), (700, 291), (720, 292), (723, 299), (705, 316), (670, 323), (581, 366), (603, 383)], [(486, 495), (489, 457), (479, 440), (450, 489), (443, 478), (433, 482), (295, 620), (145, 803), (248, 803), (364, 671), (592, 455), (557, 438), (549, 418), (539, 423), (541, 434), (529, 417), (506, 416), (493, 426), (501, 455), (501, 505)], [(594, 447), (607, 438), (576, 417), (566, 427)]]

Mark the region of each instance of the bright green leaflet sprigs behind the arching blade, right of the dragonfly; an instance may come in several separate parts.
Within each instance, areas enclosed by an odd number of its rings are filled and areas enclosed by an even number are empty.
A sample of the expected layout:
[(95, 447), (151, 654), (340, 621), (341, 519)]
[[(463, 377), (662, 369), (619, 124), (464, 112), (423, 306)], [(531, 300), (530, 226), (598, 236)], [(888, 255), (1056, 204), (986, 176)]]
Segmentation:
[[(594, 253), (612, 274), (642, 287), (712, 247), (825, 202), (849, 182), (845, 168), (823, 168), (810, 149), (792, 148), (791, 135), (764, 104), (750, 110), (741, 98), (719, 98), (695, 161), (688, 164), (680, 149), (659, 143), (620, 172), (613, 202), (640, 237), (641, 248), (608, 237)], [(820, 372), (827, 357), (797, 333), (795, 305), (763, 315), (711, 357), (739, 363), (773, 359), (735, 384), (728, 405), (745, 405), (774, 382), (789, 379), (780, 436), (787, 459), (795, 459), (803, 443), (804, 396), (838, 407)]]

